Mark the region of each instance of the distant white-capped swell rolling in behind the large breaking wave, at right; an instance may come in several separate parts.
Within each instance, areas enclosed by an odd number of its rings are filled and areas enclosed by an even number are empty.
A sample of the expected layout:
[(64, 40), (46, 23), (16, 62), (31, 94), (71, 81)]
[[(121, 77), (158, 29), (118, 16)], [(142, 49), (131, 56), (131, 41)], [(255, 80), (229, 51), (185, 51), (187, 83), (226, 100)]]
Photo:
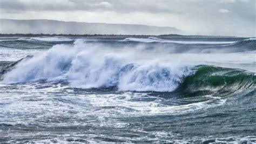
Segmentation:
[[(125, 38), (120, 40), (121, 42), (139, 42), (146, 45), (159, 45), (166, 47), (176, 47), (175, 52), (203, 52), (203, 53), (212, 53), (212, 52), (245, 52), (245, 51), (255, 51), (256, 50), (256, 39), (249, 38), (239, 41), (221, 41), (221, 38), (214, 39), (215, 41), (198, 41), (190, 39), (161, 39), (156, 37), (149, 38)], [(231, 39), (233, 40), (233, 39)]]

